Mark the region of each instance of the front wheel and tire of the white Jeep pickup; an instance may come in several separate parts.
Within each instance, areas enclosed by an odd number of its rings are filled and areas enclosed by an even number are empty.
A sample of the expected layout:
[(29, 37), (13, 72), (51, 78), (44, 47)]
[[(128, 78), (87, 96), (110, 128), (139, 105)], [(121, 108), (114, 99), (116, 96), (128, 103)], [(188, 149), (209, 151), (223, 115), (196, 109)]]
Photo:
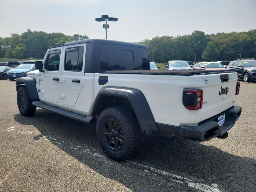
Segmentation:
[(32, 116), (36, 112), (36, 106), (32, 105), (26, 87), (20, 87), (17, 92), (17, 105), (20, 114), (24, 116)]

